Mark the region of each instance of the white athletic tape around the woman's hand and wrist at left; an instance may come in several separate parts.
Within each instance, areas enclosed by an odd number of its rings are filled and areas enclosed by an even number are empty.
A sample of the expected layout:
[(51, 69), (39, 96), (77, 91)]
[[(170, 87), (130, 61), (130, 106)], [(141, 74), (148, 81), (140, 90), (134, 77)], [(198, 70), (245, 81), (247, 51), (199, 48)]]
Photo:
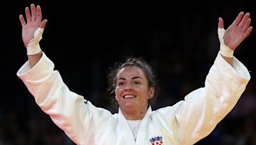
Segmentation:
[(31, 39), (28, 45), (26, 45), (28, 55), (35, 55), (41, 52), (39, 41), (42, 39), (43, 32), (44, 32), (44, 28), (36, 29), (33, 39)]

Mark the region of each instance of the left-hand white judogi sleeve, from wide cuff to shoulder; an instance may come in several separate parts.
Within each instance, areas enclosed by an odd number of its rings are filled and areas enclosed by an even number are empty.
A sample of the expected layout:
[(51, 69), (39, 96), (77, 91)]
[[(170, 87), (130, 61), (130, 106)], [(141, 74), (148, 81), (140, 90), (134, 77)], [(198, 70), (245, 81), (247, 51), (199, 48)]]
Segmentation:
[(83, 96), (71, 92), (45, 53), (33, 68), (26, 62), (20, 67), (17, 76), (35, 97), (42, 111), (49, 114), (52, 121), (76, 144), (93, 141), (94, 124), (100, 121), (93, 121), (93, 116), (100, 116), (104, 120), (110, 115), (93, 106)]

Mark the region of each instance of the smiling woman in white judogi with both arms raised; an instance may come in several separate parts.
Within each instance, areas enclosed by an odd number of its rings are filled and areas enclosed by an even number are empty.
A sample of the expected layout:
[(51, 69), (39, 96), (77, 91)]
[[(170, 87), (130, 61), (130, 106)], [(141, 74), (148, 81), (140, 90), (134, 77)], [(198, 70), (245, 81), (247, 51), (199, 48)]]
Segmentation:
[(204, 87), (173, 106), (152, 111), (154, 72), (144, 60), (130, 58), (109, 75), (118, 102), (118, 113), (111, 114), (68, 89), (40, 49), (47, 22), (42, 20), (40, 6), (31, 4), (31, 11), (27, 7), (25, 12), (26, 22), (20, 15), (20, 23), (28, 62), (17, 75), (36, 104), (76, 144), (195, 144), (231, 111), (250, 80), (246, 67), (233, 56), (252, 31), (250, 13), (241, 12), (226, 31), (219, 18), (220, 52)]

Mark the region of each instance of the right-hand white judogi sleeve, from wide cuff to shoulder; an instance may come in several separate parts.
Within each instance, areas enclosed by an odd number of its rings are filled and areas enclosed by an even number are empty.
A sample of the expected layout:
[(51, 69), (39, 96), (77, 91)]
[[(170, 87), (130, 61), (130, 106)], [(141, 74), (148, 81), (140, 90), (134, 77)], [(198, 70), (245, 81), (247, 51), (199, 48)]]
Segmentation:
[(170, 127), (180, 144), (195, 144), (209, 135), (241, 97), (250, 73), (236, 57), (233, 58), (232, 67), (218, 53), (204, 87), (189, 93), (173, 107), (159, 111), (164, 120), (172, 121)]

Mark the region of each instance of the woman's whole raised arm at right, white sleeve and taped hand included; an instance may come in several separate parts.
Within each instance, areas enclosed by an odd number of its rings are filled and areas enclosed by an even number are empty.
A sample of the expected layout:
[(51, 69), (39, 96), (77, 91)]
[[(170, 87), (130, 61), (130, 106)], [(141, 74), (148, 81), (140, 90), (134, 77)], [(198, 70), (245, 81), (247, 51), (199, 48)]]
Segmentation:
[(250, 13), (239, 13), (227, 31), (223, 28), (223, 19), (219, 18), (220, 53), (205, 78), (205, 86), (189, 93), (174, 106), (159, 109), (164, 118), (161, 121), (172, 122), (169, 124), (172, 128), (170, 133), (177, 131), (180, 137), (178, 144), (195, 144), (209, 135), (244, 92), (251, 78), (250, 73), (233, 57), (233, 51), (252, 31), (249, 17)]

